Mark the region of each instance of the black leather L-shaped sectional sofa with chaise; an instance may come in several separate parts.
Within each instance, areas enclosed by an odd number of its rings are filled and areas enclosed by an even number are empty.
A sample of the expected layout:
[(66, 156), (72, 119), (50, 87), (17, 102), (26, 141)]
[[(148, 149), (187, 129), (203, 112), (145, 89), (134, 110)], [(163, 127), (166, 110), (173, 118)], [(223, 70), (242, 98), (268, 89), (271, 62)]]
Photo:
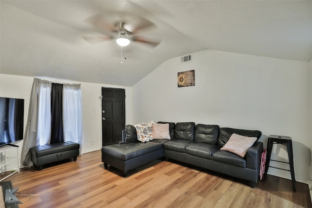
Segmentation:
[[(168, 122), (158, 122), (168, 123)], [(137, 131), (132, 125), (126, 126), (126, 142), (102, 147), (102, 162), (123, 171), (165, 157), (195, 165), (204, 169), (250, 181), (255, 187), (260, 173), (262, 142), (256, 141), (247, 150), (245, 157), (220, 150), (233, 133), (256, 137), (260, 131), (219, 128), (218, 125), (204, 125), (194, 122), (169, 123), (171, 139), (154, 139), (150, 142), (137, 141)]]

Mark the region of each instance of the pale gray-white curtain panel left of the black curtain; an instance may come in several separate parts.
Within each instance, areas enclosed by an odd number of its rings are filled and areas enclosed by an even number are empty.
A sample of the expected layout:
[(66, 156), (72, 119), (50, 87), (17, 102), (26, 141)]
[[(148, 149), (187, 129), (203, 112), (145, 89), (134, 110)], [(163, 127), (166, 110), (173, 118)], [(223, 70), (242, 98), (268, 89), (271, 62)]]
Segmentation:
[(51, 82), (34, 79), (28, 117), (20, 160), (22, 165), (30, 167), (33, 162), (29, 149), (50, 143), (51, 132)]

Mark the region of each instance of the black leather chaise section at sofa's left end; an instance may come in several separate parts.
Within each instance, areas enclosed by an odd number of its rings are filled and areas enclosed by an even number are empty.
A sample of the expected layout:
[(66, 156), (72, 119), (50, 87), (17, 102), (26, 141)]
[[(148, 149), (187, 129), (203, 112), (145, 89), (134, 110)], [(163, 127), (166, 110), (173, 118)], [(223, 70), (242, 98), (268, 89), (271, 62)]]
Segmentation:
[(128, 170), (163, 157), (162, 146), (163, 144), (156, 142), (132, 142), (104, 146), (102, 147), (102, 162), (104, 168), (111, 165), (122, 170), (123, 175), (126, 176)]

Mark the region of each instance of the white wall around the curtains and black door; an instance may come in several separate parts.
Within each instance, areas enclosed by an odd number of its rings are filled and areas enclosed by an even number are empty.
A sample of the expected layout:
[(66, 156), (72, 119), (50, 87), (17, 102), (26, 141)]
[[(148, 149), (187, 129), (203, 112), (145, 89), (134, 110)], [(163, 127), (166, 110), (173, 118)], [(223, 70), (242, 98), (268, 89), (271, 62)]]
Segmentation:
[[(132, 123), (132, 88), (123, 86), (103, 85), (87, 82), (60, 80), (53, 78), (42, 78), (56, 83), (81, 83), (82, 97), (82, 153), (99, 150), (102, 146), (102, 127), (101, 127), (101, 95), (102, 87), (125, 89), (126, 93), (126, 124)], [(0, 74), (0, 96), (23, 98), (24, 103), (24, 131), (28, 115), (29, 100), (34, 77), (13, 76)], [(91, 140), (94, 144), (91, 145)], [(20, 146), (21, 151), (22, 142)], [(100, 159), (100, 158), (99, 158)]]

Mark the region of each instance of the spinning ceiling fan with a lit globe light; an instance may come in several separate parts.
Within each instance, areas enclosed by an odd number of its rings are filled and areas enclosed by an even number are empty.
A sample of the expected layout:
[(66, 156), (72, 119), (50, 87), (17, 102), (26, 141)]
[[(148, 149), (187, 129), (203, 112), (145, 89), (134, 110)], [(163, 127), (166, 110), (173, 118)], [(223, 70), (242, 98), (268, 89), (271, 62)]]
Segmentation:
[(154, 48), (161, 42), (160, 39), (143, 38), (137, 35), (156, 28), (153, 22), (140, 16), (126, 13), (106, 13), (92, 16), (86, 21), (100, 31), (100, 35), (82, 36), (91, 44), (115, 39), (117, 44), (122, 47), (128, 46), (131, 42), (137, 42)]

